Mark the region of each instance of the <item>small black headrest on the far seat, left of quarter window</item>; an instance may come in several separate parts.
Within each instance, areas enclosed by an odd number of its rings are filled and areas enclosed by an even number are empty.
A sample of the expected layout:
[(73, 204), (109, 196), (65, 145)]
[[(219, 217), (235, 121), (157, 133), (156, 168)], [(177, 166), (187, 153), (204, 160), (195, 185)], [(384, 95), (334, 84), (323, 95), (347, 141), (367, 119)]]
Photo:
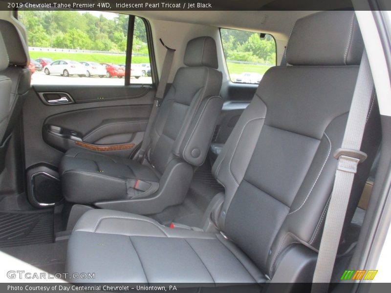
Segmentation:
[(218, 68), (216, 42), (211, 37), (199, 37), (187, 43), (183, 63), (191, 67)]

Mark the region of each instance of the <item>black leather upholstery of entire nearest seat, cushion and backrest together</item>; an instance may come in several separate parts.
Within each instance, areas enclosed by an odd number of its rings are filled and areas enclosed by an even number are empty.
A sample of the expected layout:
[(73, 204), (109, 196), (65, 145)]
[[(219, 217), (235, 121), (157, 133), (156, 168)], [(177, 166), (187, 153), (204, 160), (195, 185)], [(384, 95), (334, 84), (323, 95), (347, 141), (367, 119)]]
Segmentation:
[[(311, 48), (318, 39), (324, 38), (321, 32), (327, 29), (345, 32), (346, 38), (337, 41), (346, 44), (352, 17), (353, 12), (333, 11), (304, 18), (298, 21), (297, 29), (312, 27), (315, 31), (311, 39), (298, 32), (292, 34), (289, 42), (305, 42)], [(318, 20), (321, 26), (317, 25)], [(362, 48), (359, 38), (354, 40), (350, 43), (351, 50), (356, 50), (355, 46)], [(254, 282), (259, 283), (267, 277), (273, 278), (284, 252), (292, 246), (317, 251), (337, 164), (333, 152), (342, 143), (359, 68), (345, 65), (343, 59), (335, 66), (335, 51), (328, 50), (334, 46), (334, 43), (325, 43), (324, 52), (318, 54), (318, 58), (324, 58), (314, 61), (315, 65), (279, 66), (268, 70), (217, 157), (213, 173), (224, 186), (225, 194), (220, 210), (213, 212), (213, 220), (228, 238), (221, 242), (224, 246), (227, 244), (225, 247), (217, 247), (218, 242), (214, 242), (214, 237), (221, 240), (219, 234), (212, 236), (207, 232), (175, 229), (170, 234), (170, 230), (154, 222), (155, 227), (152, 227), (152, 220), (148, 218), (142, 218), (140, 221), (145, 223), (141, 224), (133, 214), (94, 210), (81, 218), (71, 235), (67, 269), (70, 272), (91, 270), (98, 267), (104, 257), (109, 266), (120, 268), (121, 281), (205, 282), (208, 277), (201, 274), (202, 269), (193, 273), (193, 266), (199, 262), (192, 258), (195, 251), (213, 276), (208, 282), (237, 282), (238, 279), (249, 282), (248, 275), (243, 274), (242, 267), (246, 267), (251, 268)], [(295, 60), (294, 52), (296, 50), (291, 51), (290, 60)], [(320, 63), (322, 65), (318, 65)], [(362, 150), (367, 152), (368, 159), (359, 166), (355, 177), (350, 201), (353, 209), (380, 142), (375, 102), (365, 135)], [(150, 223), (148, 227), (146, 223)], [(162, 237), (167, 240), (162, 241)], [(165, 257), (169, 241), (179, 251), (172, 258)], [(184, 244), (185, 241), (188, 243)], [(124, 250), (117, 251), (121, 243)], [(238, 259), (242, 266), (232, 265), (230, 272), (225, 270), (232, 257), (226, 251), (228, 245), (235, 248), (235, 255), (241, 251)], [(189, 246), (193, 251), (187, 251)], [(93, 252), (87, 254), (89, 250)], [(155, 250), (164, 255), (160, 257)], [(147, 256), (149, 252), (154, 258)], [(242, 260), (244, 255), (245, 261)], [(126, 257), (126, 261), (118, 266), (116, 260), (121, 256)], [(186, 264), (180, 266), (179, 272), (171, 269), (178, 265), (178, 259)], [(129, 266), (135, 262), (141, 264), (136, 269), (137, 275)], [(212, 264), (220, 270), (215, 271)], [(172, 270), (169, 276), (165, 274), (167, 268)], [(100, 280), (115, 278), (111, 274), (106, 278), (109, 269), (98, 270), (99, 277), (103, 277)], [(232, 272), (240, 277), (232, 276)], [(311, 276), (307, 274), (304, 279), (310, 281)]]

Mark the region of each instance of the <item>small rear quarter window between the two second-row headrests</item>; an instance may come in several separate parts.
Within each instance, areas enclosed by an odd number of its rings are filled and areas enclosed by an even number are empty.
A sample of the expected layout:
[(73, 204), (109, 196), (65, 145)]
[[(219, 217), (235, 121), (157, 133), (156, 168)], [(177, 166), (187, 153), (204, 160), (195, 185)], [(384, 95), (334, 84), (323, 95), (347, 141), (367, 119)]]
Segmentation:
[(234, 83), (259, 84), (263, 74), (276, 65), (276, 42), (269, 34), (220, 29), (225, 60)]

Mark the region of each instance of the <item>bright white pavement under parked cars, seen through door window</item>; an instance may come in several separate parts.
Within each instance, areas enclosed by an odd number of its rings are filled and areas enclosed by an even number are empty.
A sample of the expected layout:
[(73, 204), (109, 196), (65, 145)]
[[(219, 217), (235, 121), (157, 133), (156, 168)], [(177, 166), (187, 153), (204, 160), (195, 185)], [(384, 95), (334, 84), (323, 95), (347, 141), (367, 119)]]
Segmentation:
[[(79, 77), (79, 76), (60, 76), (46, 75), (43, 71), (36, 71), (31, 77), (31, 84), (80, 84), (80, 85), (124, 85), (124, 78), (118, 77)], [(151, 77), (131, 78), (133, 84), (151, 84)]]

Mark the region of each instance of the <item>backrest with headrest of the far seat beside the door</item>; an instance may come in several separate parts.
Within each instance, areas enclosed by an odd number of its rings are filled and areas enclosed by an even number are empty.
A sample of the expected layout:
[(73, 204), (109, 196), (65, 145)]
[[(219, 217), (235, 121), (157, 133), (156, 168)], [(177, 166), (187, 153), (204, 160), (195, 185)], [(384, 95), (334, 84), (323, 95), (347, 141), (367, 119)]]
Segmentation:
[(149, 158), (161, 173), (174, 157), (202, 164), (222, 107), (215, 40), (189, 41), (184, 64), (187, 67), (176, 72), (151, 131)]

